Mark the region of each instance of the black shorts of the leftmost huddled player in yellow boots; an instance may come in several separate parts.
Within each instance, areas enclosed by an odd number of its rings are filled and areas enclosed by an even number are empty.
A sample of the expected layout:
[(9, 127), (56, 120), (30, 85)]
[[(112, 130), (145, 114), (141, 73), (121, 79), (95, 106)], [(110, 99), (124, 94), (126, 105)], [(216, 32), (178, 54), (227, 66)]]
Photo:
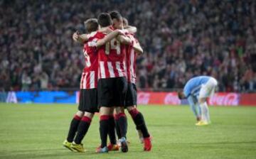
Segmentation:
[(97, 107), (97, 89), (80, 89), (78, 110), (90, 113), (99, 112)]

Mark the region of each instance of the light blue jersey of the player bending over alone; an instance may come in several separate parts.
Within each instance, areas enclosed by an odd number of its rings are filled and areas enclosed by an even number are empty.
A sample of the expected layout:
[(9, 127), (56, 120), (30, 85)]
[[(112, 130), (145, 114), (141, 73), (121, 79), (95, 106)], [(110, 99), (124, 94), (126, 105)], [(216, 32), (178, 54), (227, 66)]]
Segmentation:
[(206, 84), (210, 78), (209, 76), (198, 76), (189, 79), (183, 89), (185, 96), (187, 98), (189, 96), (198, 97), (202, 84)]

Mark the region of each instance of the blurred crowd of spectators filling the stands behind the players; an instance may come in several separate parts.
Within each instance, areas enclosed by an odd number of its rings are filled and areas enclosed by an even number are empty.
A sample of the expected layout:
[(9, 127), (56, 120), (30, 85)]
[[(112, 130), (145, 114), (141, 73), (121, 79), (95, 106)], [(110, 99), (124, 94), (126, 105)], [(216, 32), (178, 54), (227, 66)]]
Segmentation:
[(84, 66), (75, 31), (102, 11), (117, 10), (137, 26), (144, 55), (137, 86), (180, 89), (210, 75), (221, 92), (255, 92), (256, 1), (0, 1), (1, 90), (79, 89)]

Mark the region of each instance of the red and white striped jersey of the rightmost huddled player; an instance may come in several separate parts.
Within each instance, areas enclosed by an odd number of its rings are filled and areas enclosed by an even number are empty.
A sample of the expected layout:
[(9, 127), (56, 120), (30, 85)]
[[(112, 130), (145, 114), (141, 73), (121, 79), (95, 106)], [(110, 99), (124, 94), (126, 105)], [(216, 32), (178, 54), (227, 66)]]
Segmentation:
[[(131, 38), (133, 45), (139, 43), (139, 41), (132, 34), (127, 34)], [(136, 83), (136, 58), (137, 54), (134, 52), (133, 45), (127, 45), (127, 81)]]

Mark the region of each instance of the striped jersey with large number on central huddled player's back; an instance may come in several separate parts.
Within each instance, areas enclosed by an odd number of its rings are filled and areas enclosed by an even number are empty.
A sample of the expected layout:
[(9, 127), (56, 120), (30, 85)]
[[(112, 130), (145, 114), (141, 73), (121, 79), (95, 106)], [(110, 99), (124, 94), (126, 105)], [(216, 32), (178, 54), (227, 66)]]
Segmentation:
[[(105, 37), (105, 33), (97, 32), (98, 40)], [(118, 40), (112, 39), (97, 50), (99, 79), (125, 77), (126, 74), (126, 46)]]

